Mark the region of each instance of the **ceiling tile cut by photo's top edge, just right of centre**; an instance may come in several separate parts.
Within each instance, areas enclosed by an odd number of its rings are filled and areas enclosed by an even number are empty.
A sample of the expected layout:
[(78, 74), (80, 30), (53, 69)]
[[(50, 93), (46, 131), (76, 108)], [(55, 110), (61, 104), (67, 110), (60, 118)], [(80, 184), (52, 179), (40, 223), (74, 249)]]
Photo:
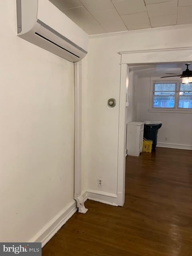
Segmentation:
[(146, 12), (144, 0), (112, 0), (120, 15)]

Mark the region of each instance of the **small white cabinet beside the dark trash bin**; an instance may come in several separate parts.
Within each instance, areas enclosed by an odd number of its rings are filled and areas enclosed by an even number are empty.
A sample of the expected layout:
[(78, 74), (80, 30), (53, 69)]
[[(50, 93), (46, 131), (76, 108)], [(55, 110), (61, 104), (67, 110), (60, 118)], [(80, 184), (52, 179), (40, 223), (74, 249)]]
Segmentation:
[(143, 149), (144, 123), (131, 122), (127, 124), (126, 149), (129, 156), (139, 156)]

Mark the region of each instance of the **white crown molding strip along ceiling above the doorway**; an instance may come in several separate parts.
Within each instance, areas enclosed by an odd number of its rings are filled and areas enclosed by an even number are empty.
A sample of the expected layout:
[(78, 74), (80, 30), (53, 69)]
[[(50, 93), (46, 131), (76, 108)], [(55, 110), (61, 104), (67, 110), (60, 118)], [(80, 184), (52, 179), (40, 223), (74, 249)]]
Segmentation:
[(137, 30), (126, 30), (126, 31), (120, 31), (120, 32), (94, 34), (94, 35), (89, 35), (89, 38), (122, 36), (122, 35), (129, 35), (129, 34), (138, 34), (138, 33), (155, 32), (155, 31), (166, 31), (166, 30), (184, 29), (184, 28), (192, 28), (192, 24), (182, 24), (182, 25), (164, 26), (164, 27), (158, 27), (158, 28), (143, 28), (143, 29), (137, 29)]

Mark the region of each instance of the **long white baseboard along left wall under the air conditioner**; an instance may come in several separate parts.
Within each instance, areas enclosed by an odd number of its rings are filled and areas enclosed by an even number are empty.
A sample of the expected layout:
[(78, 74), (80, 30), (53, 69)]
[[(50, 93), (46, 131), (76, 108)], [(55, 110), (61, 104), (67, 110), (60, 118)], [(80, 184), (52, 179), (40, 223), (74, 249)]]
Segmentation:
[(28, 242), (41, 242), (43, 247), (54, 236), (54, 234), (60, 230), (76, 210), (76, 202), (73, 200), (73, 202), (63, 208)]

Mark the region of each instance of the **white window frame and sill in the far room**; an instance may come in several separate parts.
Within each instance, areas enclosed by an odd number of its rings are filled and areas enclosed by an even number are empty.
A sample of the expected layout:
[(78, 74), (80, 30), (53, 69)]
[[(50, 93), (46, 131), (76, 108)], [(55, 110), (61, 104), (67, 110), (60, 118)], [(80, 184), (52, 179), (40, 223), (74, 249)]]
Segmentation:
[[(174, 77), (170, 78), (160, 78), (152, 77), (150, 78), (150, 100), (149, 100), (149, 112), (167, 112), (167, 113), (192, 113), (192, 108), (179, 108), (179, 92), (180, 84), (182, 80)], [(156, 108), (153, 106), (154, 102), (154, 84), (155, 83), (174, 83), (175, 88), (175, 105), (174, 108)]]

